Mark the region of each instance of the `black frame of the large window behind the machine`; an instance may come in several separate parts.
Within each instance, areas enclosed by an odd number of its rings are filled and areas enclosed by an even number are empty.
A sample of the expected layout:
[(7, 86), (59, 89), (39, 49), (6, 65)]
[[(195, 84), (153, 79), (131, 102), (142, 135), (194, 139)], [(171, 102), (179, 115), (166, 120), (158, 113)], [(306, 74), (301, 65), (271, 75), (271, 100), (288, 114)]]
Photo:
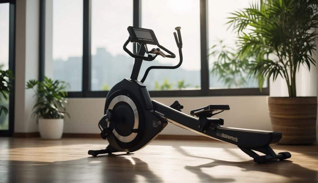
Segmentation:
[[(133, 26), (141, 27), (141, 1), (133, 0)], [(83, 71), (82, 91), (68, 92), (69, 98), (101, 98), (108, 91), (91, 91), (91, 18), (92, 0), (83, 0)], [(44, 46), (45, 46), (45, 0), (40, 2), (40, 59), (39, 76), (44, 79)], [(167, 90), (149, 91), (151, 97), (195, 97), (195, 96), (242, 96), (269, 95), (269, 82), (262, 88), (211, 89), (209, 87), (208, 53), (208, 0), (200, 0), (200, 49), (201, 49), (201, 89), (200, 90)], [(134, 47), (134, 51), (136, 48)]]

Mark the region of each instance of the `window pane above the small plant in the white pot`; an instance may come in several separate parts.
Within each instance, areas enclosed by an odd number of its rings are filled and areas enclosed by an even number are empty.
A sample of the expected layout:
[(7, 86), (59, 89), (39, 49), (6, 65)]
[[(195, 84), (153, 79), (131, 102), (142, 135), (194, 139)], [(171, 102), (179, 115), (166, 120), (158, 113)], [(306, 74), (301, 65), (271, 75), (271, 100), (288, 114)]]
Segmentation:
[(82, 90), (83, 1), (53, 1), (53, 78)]

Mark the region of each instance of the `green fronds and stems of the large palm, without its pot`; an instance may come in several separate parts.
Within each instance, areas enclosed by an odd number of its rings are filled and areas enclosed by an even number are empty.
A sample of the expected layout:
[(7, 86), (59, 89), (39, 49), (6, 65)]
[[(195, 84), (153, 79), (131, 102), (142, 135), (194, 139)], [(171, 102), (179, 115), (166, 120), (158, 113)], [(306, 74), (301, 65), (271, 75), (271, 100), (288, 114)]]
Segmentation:
[(261, 0), (236, 11), (228, 24), (238, 32), (240, 56), (254, 56), (250, 74), (261, 87), (265, 78), (286, 80), (289, 97), (296, 97), (300, 65), (315, 65), (312, 57), (318, 33), (317, 0)]

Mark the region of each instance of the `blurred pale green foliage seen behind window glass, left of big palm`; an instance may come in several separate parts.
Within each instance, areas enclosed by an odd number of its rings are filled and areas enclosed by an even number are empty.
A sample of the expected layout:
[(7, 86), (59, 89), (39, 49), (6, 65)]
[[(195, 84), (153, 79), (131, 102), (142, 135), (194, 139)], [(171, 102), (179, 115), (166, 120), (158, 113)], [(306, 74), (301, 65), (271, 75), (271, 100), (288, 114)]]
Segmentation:
[(247, 83), (245, 77), (250, 64), (246, 54), (238, 57), (237, 51), (224, 44), (223, 40), (218, 40), (210, 50), (208, 57), (213, 60), (210, 71), (212, 75), (218, 76), (218, 80), (227, 87), (239, 87)]

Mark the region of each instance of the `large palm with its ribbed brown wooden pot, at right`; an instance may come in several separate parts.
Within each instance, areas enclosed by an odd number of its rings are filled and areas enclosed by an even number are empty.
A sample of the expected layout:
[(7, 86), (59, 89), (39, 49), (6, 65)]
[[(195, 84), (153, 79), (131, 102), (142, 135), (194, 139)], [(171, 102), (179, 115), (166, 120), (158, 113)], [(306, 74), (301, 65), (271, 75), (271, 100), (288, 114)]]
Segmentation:
[(238, 32), (239, 57), (251, 56), (250, 74), (260, 87), (270, 77), (286, 81), (289, 97), (268, 97), (274, 131), (281, 143), (315, 142), (316, 97), (297, 97), (296, 73), (300, 65), (315, 65), (313, 53), (318, 32), (317, 0), (267, 0), (236, 11), (228, 24)]

